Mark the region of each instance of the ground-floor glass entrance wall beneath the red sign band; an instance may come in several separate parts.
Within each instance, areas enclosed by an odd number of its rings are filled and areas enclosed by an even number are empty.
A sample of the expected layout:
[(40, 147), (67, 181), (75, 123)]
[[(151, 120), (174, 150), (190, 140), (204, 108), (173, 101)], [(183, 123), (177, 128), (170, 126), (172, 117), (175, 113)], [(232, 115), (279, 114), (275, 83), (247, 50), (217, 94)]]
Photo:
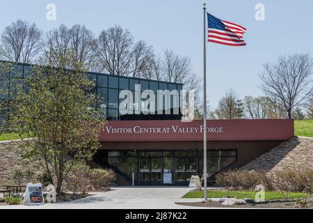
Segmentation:
[[(107, 164), (137, 185), (188, 185), (202, 176), (203, 151), (109, 151)], [(236, 162), (236, 149), (209, 150), (207, 173), (212, 176)]]

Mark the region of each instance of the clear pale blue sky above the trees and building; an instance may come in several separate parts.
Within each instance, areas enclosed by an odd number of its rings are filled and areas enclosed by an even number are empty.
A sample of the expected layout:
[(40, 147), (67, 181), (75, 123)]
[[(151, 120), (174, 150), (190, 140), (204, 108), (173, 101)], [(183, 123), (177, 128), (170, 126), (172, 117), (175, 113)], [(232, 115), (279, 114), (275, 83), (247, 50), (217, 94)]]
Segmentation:
[[(46, 20), (46, 6), (56, 5), (56, 21)], [(137, 40), (191, 58), (193, 72), (202, 75), (202, 3), (198, 0), (10, 0), (0, 7), (0, 31), (17, 19), (35, 22), (47, 31), (60, 24), (85, 24), (95, 35), (119, 24)], [(255, 5), (265, 6), (265, 21), (255, 20)], [(233, 87), (239, 96), (261, 95), (257, 88), (262, 63), (279, 55), (307, 52), (313, 55), (313, 1), (216, 0), (207, 1), (209, 13), (248, 29), (246, 47), (209, 43), (207, 88), (216, 107), (225, 91)]]

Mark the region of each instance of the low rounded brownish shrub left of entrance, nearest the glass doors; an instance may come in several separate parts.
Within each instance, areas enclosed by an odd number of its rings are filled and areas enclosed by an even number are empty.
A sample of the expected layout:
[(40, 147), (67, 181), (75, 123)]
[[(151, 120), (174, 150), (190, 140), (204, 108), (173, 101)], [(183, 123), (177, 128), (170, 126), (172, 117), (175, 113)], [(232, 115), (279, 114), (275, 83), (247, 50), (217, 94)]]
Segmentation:
[(90, 171), (90, 182), (95, 189), (105, 189), (113, 185), (115, 173), (111, 169), (92, 169)]

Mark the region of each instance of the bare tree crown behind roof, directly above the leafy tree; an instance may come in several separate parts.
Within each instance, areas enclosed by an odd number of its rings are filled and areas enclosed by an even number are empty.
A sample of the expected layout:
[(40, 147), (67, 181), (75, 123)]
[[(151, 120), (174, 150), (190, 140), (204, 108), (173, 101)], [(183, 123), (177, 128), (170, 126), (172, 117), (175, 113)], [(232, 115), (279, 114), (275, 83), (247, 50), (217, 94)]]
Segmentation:
[(75, 24), (69, 29), (61, 24), (58, 29), (47, 33), (45, 63), (58, 67), (60, 59), (67, 58), (81, 63), (88, 70), (93, 70), (96, 49), (94, 34), (86, 26)]

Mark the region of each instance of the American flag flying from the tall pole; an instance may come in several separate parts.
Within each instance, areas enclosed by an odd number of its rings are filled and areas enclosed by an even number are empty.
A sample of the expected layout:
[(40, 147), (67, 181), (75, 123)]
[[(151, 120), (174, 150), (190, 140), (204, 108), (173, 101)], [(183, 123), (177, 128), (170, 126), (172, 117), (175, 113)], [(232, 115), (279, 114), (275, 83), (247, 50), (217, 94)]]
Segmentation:
[(232, 22), (220, 20), (217, 17), (207, 13), (208, 41), (223, 45), (240, 47), (246, 45), (243, 40), (243, 33), (247, 29)]

